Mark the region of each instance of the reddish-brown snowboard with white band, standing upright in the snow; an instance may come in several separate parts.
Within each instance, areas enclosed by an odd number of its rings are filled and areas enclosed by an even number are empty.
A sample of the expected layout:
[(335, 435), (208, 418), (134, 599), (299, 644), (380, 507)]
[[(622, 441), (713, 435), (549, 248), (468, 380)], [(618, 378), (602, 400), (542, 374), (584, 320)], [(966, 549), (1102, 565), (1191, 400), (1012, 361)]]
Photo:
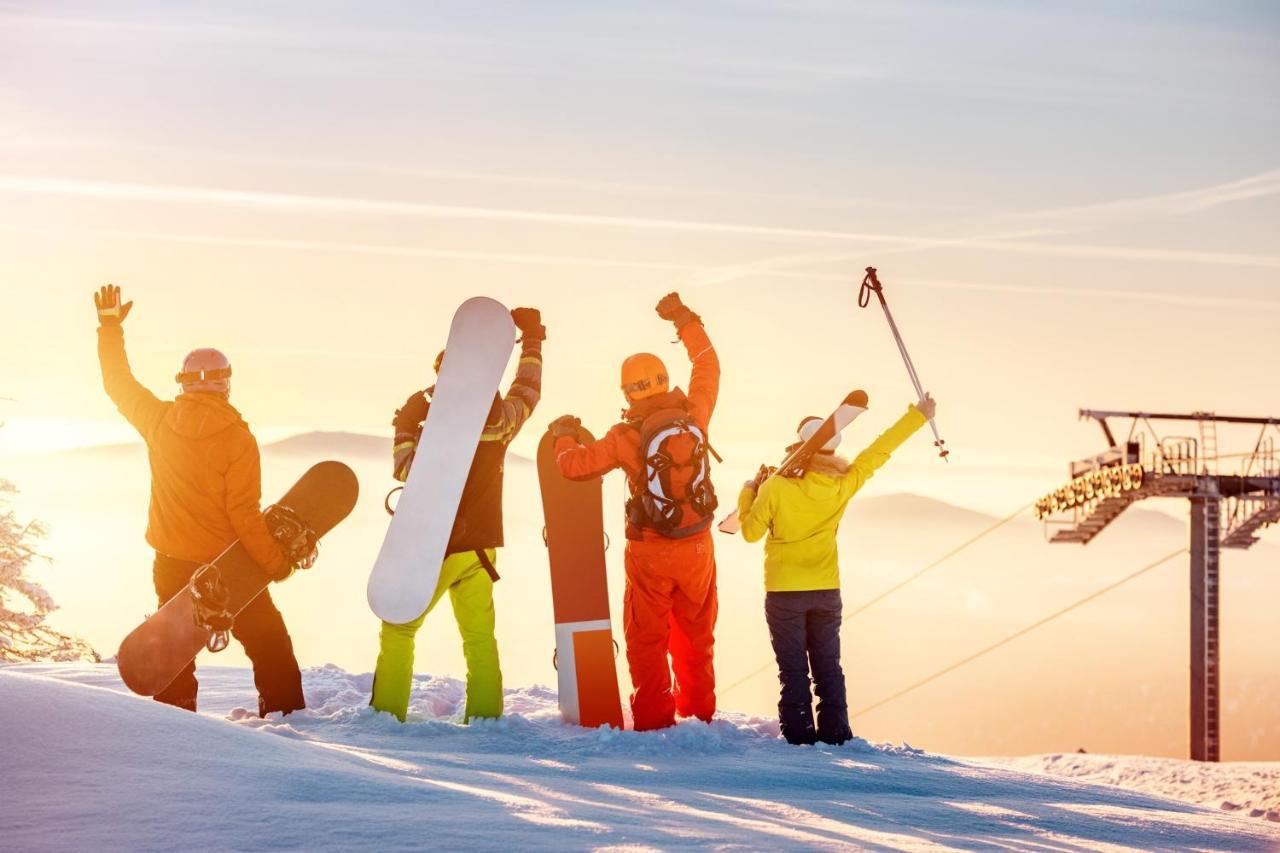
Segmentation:
[[(581, 429), (579, 443), (593, 435)], [(556, 435), (538, 444), (538, 482), (547, 526), (556, 615), (556, 675), (561, 717), (595, 729), (623, 727), (605, 575), (602, 478), (570, 480), (556, 461)]]

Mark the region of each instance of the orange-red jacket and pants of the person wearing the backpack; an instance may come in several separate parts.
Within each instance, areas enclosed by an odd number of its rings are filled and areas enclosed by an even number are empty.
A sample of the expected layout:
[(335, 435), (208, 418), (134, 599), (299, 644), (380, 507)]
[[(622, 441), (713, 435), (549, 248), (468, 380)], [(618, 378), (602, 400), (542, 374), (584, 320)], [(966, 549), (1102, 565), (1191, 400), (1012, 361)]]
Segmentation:
[[(556, 451), (566, 478), (590, 479), (621, 467), (631, 493), (641, 489), (640, 432), (632, 424), (659, 409), (684, 403), (705, 433), (719, 394), (719, 359), (700, 321), (686, 323), (680, 339), (692, 361), (687, 398), (677, 388), (641, 400), (625, 412), (631, 423), (614, 425), (586, 446), (568, 435), (559, 438)], [(671, 539), (628, 519), (626, 571), (622, 625), (635, 688), (631, 693), (635, 729), (675, 725), (676, 713), (709, 722), (716, 713), (717, 613), (710, 530)]]

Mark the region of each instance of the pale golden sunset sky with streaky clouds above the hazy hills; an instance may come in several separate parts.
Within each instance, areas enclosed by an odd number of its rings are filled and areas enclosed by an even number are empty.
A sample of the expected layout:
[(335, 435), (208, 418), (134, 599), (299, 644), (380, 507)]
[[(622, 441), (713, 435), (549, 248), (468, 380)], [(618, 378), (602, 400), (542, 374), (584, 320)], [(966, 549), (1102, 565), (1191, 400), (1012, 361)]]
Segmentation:
[(1002, 516), (1079, 407), (1280, 415), (1277, 90), (1266, 3), (0, 0), (0, 460), (132, 439), (108, 282), (138, 377), (224, 350), (264, 441), (389, 433), (462, 300), (536, 306), (526, 453), (632, 352), (687, 382), (678, 289), (749, 470), (913, 401), (876, 265), (952, 455), (870, 492)]

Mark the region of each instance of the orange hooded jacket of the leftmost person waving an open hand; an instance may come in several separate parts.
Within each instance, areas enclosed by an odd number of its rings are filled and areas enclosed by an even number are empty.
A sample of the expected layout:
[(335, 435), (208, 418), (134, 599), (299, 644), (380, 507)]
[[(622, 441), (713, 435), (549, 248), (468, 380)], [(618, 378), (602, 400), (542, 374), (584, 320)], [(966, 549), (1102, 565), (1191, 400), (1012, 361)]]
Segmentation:
[(133, 378), (120, 327), (99, 328), (97, 359), (108, 396), (147, 443), (147, 544), (206, 562), (239, 539), (259, 565), (279, 566), (284, 555), (260, 508), (257, 441), (239, 412), (221, 394), (156, 398)]

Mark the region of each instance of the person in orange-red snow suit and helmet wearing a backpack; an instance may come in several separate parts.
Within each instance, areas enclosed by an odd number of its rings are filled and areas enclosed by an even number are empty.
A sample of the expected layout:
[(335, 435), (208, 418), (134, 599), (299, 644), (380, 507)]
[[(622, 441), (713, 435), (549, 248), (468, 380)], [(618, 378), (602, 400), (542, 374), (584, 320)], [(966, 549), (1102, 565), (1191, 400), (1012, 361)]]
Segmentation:
[(658, 356), (641, 352), (622, 362), (622, 423), (586, 446), (579, 443), (577, 418), (564, 415), (550, 426), (566, 478), (590, 479), (614, 467), (627, 476), (622, 620), (637, 731), (675, 725), (677, 713), (707, 722), (716, 713), (716, 493), (707, 429), (719, 359), (701, 318), (678, 295), (664, 296), (657, 311), (675, 323), (692, 361), (689, 393), (669, 387)]

